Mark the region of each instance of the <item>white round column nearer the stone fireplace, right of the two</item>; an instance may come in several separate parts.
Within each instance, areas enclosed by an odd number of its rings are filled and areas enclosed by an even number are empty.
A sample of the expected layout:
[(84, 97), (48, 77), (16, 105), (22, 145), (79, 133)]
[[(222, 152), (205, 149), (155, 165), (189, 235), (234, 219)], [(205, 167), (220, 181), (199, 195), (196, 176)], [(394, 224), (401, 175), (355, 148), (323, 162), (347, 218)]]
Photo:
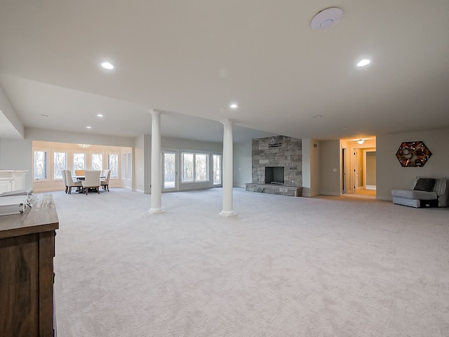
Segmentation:
[(222, 121), (223, 133), (223, 209), (220, 216), (235, 216), (232, 210), (232, 121)]

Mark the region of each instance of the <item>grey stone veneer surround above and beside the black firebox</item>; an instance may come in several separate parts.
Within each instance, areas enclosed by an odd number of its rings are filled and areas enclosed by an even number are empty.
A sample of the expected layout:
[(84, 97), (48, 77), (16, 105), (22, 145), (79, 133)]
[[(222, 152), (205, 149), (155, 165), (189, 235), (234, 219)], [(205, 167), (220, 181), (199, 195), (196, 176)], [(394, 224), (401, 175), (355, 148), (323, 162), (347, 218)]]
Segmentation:
[[(279, 147), (269, 147), (280, 143)], [(302, 186), (302, 140), (286, 136), (253, 139), (253, 183), (265, 183), (265, 166), (283, 166), (284, 184)]]

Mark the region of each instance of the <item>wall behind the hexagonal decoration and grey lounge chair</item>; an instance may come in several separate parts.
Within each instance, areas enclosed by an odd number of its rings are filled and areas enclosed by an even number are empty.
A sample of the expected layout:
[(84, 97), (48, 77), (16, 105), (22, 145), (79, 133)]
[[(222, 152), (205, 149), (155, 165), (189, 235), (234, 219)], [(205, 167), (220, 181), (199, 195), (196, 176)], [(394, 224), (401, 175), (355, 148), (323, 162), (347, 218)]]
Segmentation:
[[(396, 152), (403, 142), (422, 140), (432, 152), (424, 167), (402, 167)], [(449, 128), (377, 136), (377, 199), (391, 200), (391, 190), (410, 189), (416, 176), (449, 177)]]

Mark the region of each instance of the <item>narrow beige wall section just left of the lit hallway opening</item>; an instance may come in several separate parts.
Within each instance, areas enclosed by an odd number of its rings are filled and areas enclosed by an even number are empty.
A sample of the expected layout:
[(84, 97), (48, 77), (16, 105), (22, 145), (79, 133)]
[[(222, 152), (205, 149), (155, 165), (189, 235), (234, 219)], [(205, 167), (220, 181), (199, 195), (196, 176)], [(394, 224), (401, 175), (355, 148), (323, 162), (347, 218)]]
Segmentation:
[(321, 140), (320, 194), (340, 195), (340, 140)]

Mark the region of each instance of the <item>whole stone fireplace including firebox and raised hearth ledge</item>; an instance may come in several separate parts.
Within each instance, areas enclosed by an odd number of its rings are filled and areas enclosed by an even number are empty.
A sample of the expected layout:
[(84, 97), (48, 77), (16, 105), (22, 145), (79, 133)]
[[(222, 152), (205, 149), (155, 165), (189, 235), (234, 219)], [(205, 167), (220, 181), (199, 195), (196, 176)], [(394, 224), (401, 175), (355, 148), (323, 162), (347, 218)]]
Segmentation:
[(302, 140), (287, 136), (253, 139), (252, 183), (246, 190), (302, 194)]

